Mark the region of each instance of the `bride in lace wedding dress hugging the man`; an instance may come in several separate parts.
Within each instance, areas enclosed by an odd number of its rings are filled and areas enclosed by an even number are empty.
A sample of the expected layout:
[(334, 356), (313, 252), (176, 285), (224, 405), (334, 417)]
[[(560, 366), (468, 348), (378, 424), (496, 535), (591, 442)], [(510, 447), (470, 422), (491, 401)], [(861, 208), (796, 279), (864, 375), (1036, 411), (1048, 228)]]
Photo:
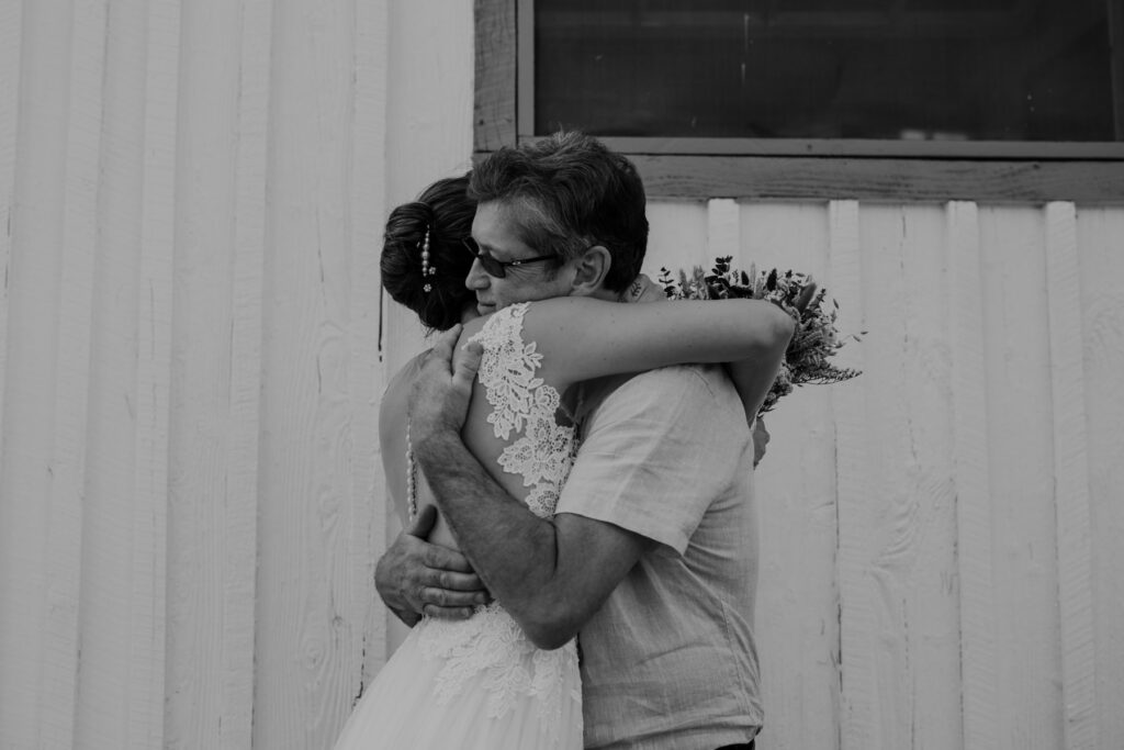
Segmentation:
[[(536, 515), (553, 515), (577, 452), (571, 388), (581, 381), (685, 362), (727, 362), (752, 419), (776, 373), (787, 314), (761, 300), (623, 305), (559, 297), (497, 306), (478, 316), (470, 272), (535, 274), (550, 255), (502, 263), (470, 237), (468, 178), (441, 180), (387, 224), (383, 283), (434, 329), (463, 323), (460, 342), (482, 345), (462, 437), (493, 479)], [(479, 265), (479, 268), (478, 268)], [(646, 284), (646, 286), (645, 286)], [(662, 298), (643, 280), (637, 301)], [(786, 327), (786, 325), (788, 327)], [(442, 338), (439, 346), (448, 346)], [(779, 351), (778, 351), (779, 349)], [(380, 410), (382, 457), (396, 510), (407, 523), (433, 504), (414, 464), (407, 403), (426, 354), (395, 376)], [(764, 374), (763, 374), (764, 373)], [(429, 541), (456, 548), (439, 519)], [(404, 616), (404, 613), (399, 613)], [(581, 748), (578, 648), (544, 650), (502, 604), (466, 620), (423, 617), (355, 706), (336, 750), (360, 748)]]

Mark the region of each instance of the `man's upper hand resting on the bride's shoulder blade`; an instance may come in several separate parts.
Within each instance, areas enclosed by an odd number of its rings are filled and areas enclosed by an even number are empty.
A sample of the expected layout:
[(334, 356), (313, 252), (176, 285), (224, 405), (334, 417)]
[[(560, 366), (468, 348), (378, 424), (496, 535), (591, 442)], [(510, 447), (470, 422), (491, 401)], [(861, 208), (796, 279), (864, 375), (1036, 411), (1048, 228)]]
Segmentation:
[(415, 444), (439, 432), (460, 433), (464, 426), (483, 350), (473, 342), (454, 356), (460, 335), (459, 325), (441, 334), (414, 381), (408, 414)]

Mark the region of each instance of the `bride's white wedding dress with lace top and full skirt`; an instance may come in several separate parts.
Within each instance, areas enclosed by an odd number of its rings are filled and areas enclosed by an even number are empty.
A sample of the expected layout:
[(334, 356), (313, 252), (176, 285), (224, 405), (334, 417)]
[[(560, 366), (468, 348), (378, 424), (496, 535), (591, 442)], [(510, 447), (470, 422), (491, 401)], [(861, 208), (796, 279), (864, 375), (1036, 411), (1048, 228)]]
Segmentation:
[[(558, 391), (535, 377), (542, 355), (523, 341), (528, 305), (496, 313), (473, 336), (483, 344), (479, 380), (504, 441), (504, 471), (523, 477), (526, 504), (554, 513), (575, 452), (573, 427), (555, 418)], [(413, 466), (413, 464), (411, 464)], [(410, 485), (413, 490), (413, 484)], [(410, 506), (416, 505), (414, 497)], [(424, 617), (363, 694), (336, 750), (582, 747), (574, 641), (542, 651), (497, 603), (465, 621)]]

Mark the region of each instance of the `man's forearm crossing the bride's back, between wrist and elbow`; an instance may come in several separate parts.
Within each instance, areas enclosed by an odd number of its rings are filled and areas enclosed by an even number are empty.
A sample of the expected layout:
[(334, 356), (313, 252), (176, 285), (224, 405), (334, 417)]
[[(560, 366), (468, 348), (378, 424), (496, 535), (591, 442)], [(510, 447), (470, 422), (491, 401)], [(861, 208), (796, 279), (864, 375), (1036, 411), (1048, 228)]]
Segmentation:
[(456, 433), (436, 433), (414, 453), (473, 570), (517, 621), (534, 616), (555, 572), (554, 524), (500, 487)]

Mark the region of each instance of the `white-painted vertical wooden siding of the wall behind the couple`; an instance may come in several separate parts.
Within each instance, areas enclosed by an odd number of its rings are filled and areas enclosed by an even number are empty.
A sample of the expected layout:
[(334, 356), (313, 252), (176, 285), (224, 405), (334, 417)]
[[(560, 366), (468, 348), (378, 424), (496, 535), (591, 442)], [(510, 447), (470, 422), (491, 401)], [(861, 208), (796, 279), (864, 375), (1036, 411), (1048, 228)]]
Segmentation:
[[(0, 0), (0, 747), (329, 747), (400, 641), (378, 249), (469, 166), (471, 13)], [(650, 219), (868, 331), (767, 418), (759, 747), (1124, 747), (1124, 207)]]

